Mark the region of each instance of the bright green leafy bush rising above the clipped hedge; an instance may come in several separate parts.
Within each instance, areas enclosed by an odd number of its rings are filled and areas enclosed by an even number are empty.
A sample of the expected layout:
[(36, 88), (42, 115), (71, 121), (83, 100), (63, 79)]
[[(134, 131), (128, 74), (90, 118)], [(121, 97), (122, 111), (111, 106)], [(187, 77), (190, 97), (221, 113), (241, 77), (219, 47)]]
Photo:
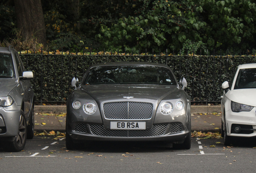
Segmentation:
[(102, 47), (179, 50), (186, 40), (202, 42), (212, 51), (246, 51), (255, 45), (256, 5), (252, 0), (139, 1), (143, 5), (134, 11), (137, 16), (101, 25), (96, 38)]

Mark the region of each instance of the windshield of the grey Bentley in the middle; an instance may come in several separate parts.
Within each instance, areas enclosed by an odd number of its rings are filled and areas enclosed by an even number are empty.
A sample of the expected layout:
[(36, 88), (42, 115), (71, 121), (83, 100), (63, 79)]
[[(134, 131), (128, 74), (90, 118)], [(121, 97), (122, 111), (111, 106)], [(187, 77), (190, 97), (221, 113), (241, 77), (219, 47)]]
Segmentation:
[(165, 84), (176, 85), (168, 68), (149, 65), (97, 66), (83, 81), (86, 84)]

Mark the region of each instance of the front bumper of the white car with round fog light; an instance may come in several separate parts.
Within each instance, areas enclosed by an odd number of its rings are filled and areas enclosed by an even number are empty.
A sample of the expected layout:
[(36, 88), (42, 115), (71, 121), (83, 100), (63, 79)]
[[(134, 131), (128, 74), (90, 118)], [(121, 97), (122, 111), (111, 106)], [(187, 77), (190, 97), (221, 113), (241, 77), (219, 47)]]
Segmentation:
[[(233, 137), (256, 137), (256, 107), (250, 112), (235, 113), (231, 111), (226, 112), (226, 126), (227, 135)], [(235, 132), (234, 127), (242, 127), (242, 131)]]

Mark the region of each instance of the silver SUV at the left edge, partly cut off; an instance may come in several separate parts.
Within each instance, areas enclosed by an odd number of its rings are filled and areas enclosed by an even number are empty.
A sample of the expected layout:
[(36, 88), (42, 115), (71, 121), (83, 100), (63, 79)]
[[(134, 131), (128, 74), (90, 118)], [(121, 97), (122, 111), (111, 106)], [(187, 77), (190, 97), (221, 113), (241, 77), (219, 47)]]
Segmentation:
[(0, 47), (0, 146), (17, 152), (34, 136), (33, 72), (25, 71), (18, 52)]

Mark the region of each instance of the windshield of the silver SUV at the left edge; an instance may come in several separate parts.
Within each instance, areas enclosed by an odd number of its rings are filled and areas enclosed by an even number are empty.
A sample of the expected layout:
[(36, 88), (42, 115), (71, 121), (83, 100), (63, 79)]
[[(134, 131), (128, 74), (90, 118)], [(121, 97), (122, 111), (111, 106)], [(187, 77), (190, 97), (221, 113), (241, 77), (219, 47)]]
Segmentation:
[(12, 78), (13, 76), (14, 68), (12, 55), (8, 53), (0, 53), (0, 78)]

